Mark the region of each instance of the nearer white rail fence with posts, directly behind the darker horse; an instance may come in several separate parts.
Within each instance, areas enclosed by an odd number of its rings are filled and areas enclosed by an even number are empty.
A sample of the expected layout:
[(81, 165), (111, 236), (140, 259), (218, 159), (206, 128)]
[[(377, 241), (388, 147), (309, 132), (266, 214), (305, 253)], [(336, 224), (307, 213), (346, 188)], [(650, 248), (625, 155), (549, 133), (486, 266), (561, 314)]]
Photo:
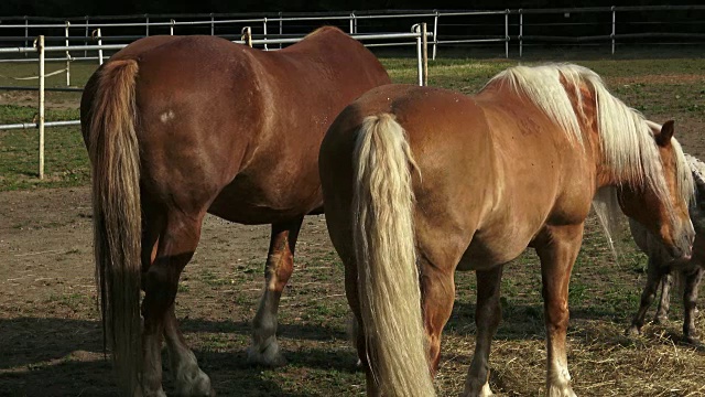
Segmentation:
[[(248, 32), (251, 30), (249, 28), (243, 29), (243, 32)], [(426, 24), (420, 23), (412, 26), (411, 33), (387, 33), (387, 34), (366, 34), (366, 35), (356, 35), (352, 34), (351, 37), (358, 41), (379, 41), (379, 40), (393, 40), (399, 41), (402, 40), (404, 44), (415, 44), (416, 45), (416, 58), (417, 58), (417, 77), (419, 85), (426, 84), (426, 74), (427, 74), (427, 37), (430, 33), (426, 32)], [(303, 40), (303, 37), (292, 37), (292, 39), (276, 39), (276, 40), (268, 40), (268, 39), (252, 39), (251, 36), (242, 37), (240, 40), (234, 41), (240, 44), (249, 44), (249, 45), (268, 45), (268, 44), (291, 44), (296, 43)], [(29, 129), (29, 128), (37, 128), (39, 129), (39, 178), (44, 178), (44, 128), (45, 127), (64, 127), (64, 126), (77, 126), (80, 125), (80, 120), (68, 120), (68, 121), (45, 121), (44, 120), (44, 97), (46, 90), (83, 90), (82, 88), (45, 88), (45, 77), (46, 74), (44, 72), (44, 66), (46, 63), (46, 53), (52, 52), (63, 52), (68, 54), (70, 51), (113, 51), (121, 50), (126, 47), (128, 44), (99, 44), (99, 45), (64, 45), (64, 46), (45, 46), (45, 37), (44, 35), (40, 35), (35, 41), (33, 46), (24, 46), (24, 47), (7, 47), (0, 49), (0, 55), (2, 54), (30, 54), (37, 53), (39, 54), (39, 88), (35, 87), (0, 87), (4, 89), (22, 89), (22, 90), (39, 90), (39, 116), (36, 122), (20, 122), (12, 125), (0, 125), (0, 130), (2, 129)], [(369, 44), (368, 44), (369, 45)], [(99, 54), (100, 63), (102, 63), (102, 54)], [(70, 84), (70, 75), (69, 75), (69, 61), (67, 61), (66, 65), (66, 79), (67, 85)]]

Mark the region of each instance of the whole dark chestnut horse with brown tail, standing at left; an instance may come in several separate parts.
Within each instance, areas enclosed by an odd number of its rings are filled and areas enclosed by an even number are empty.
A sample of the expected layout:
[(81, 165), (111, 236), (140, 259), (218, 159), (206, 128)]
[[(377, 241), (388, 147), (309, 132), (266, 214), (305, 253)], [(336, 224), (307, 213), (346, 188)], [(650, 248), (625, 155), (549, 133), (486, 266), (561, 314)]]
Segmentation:
[(249, 358), (282, 362), (276, 309), (303, 217), (323, 211), (321, 141), (346, 105), (389, 82), (372, 53), (335, 28), (276, 52), (212, 36), (148, 37), (93, 75), (82, 127), (96, 273), (124, 394), (164, 395), (162, 337), (176, 393), (213, 394), (174, 316), (206, 213), (272, 224)]

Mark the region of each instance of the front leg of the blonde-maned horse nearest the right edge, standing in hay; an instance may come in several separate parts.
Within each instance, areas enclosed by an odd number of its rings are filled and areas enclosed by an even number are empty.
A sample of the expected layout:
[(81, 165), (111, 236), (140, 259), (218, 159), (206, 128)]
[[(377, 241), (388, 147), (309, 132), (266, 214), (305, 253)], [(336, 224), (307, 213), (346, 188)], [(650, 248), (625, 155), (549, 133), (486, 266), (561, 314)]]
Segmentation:
[(550, 397), (575, 396), (571, 388), (565, 337), (570, 318), (568, 283), (582, 240), (582, 224), (546, 226), (534, 244), (541, 259), (547, 350), (546, 395)]

